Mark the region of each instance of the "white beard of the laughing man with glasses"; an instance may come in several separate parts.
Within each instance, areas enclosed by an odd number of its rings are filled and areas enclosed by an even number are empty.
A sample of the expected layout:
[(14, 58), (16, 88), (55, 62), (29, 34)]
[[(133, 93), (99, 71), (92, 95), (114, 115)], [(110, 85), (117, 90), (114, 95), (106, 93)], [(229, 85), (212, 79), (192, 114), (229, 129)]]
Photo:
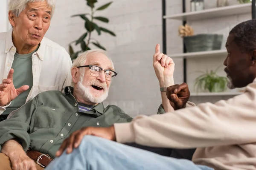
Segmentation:
[(87, 87), (82, 85), (82, 77), (81, 79), (79, 79), (79, 82), (77, 83), (77, 89), (79, 94), (81, 95), (81, 97), (83, 97), (83, 99), (85, 101), (91, 102), (91, 103), (101, 103), (103, 102), (105, 99), (107, 99), (108, 97), (108, 90), (106, 90), (106, 87), (103, 88), (104, 94), (102, 94), (102, 96), (99, 97), (95, 97), (90, 93), (90, 86), (91, 85), (97, 85), (96, 80), (92, 81), (92, 82), (87, 82)]

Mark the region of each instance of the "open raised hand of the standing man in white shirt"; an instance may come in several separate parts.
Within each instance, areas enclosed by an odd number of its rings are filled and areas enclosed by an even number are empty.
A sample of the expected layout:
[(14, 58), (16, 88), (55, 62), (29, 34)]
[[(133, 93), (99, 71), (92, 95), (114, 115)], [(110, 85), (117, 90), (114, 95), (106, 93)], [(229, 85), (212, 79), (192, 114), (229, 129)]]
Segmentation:
[(3, 79), (3, 84), (0, 84), (0, 106), (7, 105), (22, 92), (29, 89), (28, 85), (23, 85), (20, 88), (15, 89), (13, 85), (13, 72), (14, 70), (11, 69), (7, 79)]

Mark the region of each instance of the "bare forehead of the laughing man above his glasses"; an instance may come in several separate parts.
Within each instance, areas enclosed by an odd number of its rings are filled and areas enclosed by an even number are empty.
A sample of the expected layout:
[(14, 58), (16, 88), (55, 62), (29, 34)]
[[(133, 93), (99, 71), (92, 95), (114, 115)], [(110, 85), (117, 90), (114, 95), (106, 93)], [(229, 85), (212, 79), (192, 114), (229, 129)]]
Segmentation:
[(85, 65), (97, 65), (103, 69), (114, 69), (111, 60), (102, 53), (89, 54), (86, 59)]

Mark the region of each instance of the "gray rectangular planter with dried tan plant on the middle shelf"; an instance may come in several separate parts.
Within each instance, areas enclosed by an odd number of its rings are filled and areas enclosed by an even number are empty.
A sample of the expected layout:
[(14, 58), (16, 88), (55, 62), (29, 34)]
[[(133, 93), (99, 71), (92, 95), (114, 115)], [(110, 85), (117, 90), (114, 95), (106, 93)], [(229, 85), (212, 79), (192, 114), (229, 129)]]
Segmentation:
[(191, 26), (179, 27), (179, 35), (183, 38), (187, 52), (220, 50), (223, 35), (219, 34), (197, 34)]

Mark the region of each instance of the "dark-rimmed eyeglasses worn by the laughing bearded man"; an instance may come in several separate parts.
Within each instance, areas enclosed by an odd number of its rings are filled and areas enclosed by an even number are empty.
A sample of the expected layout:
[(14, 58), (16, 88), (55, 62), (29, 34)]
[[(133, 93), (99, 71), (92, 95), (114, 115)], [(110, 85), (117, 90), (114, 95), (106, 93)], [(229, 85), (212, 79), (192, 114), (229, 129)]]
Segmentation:
[[(102, 68), (96, 65), (83, 65), (83, 66), (78, 66), (77, 68), (81, 68), (81, 67), (89, 67), (90, 68), (90, 75), (92, 75), (93, 77), (98, 77), (101, 72), (102, 72)], [(117, 76), (117, 73), (115, 71), (106, 69), (103, 70), (105, 72), (105, 77), (108, 81), (112, 81), (113, 77)]]

